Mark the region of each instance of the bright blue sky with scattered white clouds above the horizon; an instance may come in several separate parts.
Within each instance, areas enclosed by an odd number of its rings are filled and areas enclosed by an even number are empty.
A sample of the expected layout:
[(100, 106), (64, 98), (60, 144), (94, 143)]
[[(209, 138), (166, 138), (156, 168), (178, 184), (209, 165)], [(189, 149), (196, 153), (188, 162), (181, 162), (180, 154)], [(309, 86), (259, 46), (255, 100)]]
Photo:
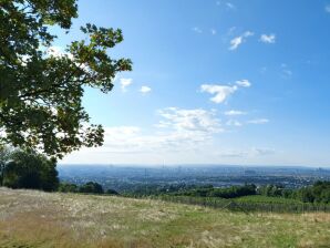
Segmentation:
[(100, 148), (62, 163), (330, 166), (330, 1), (94, 0), (86, 22), (121, 28), (131, 58), (84, 106)]

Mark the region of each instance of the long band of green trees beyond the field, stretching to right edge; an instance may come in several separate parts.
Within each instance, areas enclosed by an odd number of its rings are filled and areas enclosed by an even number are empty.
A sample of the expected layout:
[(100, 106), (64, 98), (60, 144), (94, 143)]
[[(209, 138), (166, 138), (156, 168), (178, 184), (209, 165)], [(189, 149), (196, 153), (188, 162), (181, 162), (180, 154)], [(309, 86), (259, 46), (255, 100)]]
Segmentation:
[(246, 184), (243, 186), (214, 187), (213, 185), (140, 185), (124, 195), (141, 196), (188, 196), (188, 197), (216, 197), (237, 198), (243, 196), (260, 195), (267, 197), (280, 197), (285, 199), (296, 199), (301, 203), (330, 204), (330, 182), (317, 182), (312, 186), (298, 189), (285, 188), (282, 185)]

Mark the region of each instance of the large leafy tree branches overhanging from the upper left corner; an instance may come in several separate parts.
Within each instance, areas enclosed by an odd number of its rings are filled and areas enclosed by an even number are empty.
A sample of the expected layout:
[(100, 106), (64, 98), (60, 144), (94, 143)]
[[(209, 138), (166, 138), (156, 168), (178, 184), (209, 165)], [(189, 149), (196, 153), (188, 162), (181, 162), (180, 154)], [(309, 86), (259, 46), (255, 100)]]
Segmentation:
[(84, 89), (110, 92), (132, 62), (107, 53), (123, 41), (120, 29), (90, 23), (81, 28), (85, 40), (51, 52), (56, 37), (50, 25), (68, 34), (76, 17), (76, 0), (0, 1), (0, 145), (53, 157), (102, 145), (102, 126), (90, 124), (82, 106)]

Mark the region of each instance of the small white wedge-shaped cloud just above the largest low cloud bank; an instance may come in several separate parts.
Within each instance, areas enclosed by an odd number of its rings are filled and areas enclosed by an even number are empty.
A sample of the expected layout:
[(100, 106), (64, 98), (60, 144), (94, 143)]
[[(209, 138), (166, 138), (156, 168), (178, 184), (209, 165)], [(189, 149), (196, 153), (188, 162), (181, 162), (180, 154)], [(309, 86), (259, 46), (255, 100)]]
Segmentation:
[(236, 81), (235, 85), (202, 84), (200, 91), (213, 94), (212, 102), (223, 103), (239, 87), (249, 87), (251, 83), (247, 80)]

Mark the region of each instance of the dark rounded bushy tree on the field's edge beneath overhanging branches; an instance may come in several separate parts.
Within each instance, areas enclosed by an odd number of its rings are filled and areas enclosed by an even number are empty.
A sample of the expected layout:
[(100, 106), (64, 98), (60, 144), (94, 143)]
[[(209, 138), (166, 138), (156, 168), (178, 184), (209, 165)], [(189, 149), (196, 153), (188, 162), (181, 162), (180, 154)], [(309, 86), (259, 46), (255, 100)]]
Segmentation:
[(4, 168), (3, 185), (11, 188), (58, 189), (55, 159), (34, 152), (14, 151)]

